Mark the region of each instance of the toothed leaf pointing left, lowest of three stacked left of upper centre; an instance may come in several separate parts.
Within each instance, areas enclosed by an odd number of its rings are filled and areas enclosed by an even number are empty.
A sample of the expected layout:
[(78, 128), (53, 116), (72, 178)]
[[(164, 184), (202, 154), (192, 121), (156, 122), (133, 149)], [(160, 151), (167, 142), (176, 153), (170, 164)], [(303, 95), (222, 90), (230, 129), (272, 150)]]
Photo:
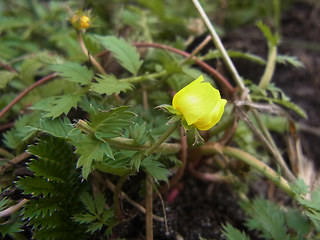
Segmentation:
[(68, 114), (71, 108), (77, 107), (82, 96), (83, 92), (77, 92), (62, 96), (49, 97), (35, 103), (31, 108), (45, 111), (47, 113), (44, 117), (52, 117), (54, 119), (63, 113)]

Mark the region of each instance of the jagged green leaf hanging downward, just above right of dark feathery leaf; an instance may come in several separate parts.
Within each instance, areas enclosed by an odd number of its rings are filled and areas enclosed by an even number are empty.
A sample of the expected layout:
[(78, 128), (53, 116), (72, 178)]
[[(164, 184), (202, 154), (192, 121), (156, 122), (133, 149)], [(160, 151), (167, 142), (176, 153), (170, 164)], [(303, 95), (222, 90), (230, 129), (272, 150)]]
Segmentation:
[(88, 177), (93, 161), (102, 161), (105, 156), (114, 158), (109, 144), (88, 135), (76, 142), (75, 146), (76, 153), (80, 155), (77, 168), (82, 167), (83, 178)]

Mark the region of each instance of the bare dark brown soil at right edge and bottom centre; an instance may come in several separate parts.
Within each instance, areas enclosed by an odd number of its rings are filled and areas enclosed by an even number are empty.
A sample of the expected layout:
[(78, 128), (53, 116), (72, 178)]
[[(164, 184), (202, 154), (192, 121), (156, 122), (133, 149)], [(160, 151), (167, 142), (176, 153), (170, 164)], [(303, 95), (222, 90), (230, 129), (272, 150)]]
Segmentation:
[[(280, 54), (296, 56), (305, 68), (294, 68), (289, 65), (278, 65), (273, 81), (292, 101), (302, 107), (308, 119), (295, 120), (310, 126), (320, 122), (320, 9), (308, 3), (296, 2), (282, 17), (282, 42)], [(228, 49), (241, 50), (267, 57), (267, 45), (256, 26), (250, 25), (228, 33), (223, 42)], [(236, 60), (240, 75), (257, 82), (264, 67), (247, 60)], [(282, 138), (279, 138), (282, 141)], [(309, 159), (315, 161), (320, 155), (319, 137), (312, 133), (301, 133), (303, 151)], [(285, 145), (283, 145), (285, 146)], [(225, 239), (221, 225), (226, 222), (246, 230), (245, 215), (238, 206), (238, 197), (226, 184), (207, 183), (196, 180), (187, 172), (181, 180), (181, 190), (174, 202), (165, 203), (168, 218), (169, 234), (166, 235), (163, 223), (155, 222), (155, 239), (157, 240), (199, 240), (201, 234), (206, 239)], [(258, 186), (258, 187), (255, 187)], [(265, 186), (265, 189), (261, 189)], [(267, 196), (268, 182), (260, 182), (251, 186), (252, 195)], [(258, 191), (259, 190), (259, 191)], [(288, 201), (288, 197), (276, 191), (274, 199)], [(155, 201), (155, 213), (163, 216), (161, 202)], [(137, 214), (122, 224), (118, 232), (126, 239), (144, 239), (144, 216)], [(259, 239), (257, 235), (248, 233), (251, 239)]]

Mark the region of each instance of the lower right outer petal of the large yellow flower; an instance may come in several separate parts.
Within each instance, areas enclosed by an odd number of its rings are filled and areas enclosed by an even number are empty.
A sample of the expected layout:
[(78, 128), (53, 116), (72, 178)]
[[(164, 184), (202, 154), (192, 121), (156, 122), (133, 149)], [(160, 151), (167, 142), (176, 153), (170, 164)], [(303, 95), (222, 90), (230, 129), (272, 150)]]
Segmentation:
[(216, 125), (224, 112), (224, 106), (226, 105), (227, 100), (225, 99), (220, 99), (216, 106), (211, 110), (208, 115), (200, 118), (197, 122), (194, 123), (194, 125), (199, 129), (199, 130), (208, 130), (212, 128), (214, 125)]

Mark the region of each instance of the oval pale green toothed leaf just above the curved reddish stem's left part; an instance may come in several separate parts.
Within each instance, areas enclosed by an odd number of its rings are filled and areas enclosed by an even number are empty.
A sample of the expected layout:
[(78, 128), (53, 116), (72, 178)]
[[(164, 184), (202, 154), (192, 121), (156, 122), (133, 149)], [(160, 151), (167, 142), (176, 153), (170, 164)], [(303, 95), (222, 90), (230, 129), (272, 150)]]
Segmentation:
[(58, 72), (59, 75), (66, 80), (82, 85), (89, 84), (93, 77), (93, 72), (91, 70), (74, 62), (53, 65), (50, 69)]

